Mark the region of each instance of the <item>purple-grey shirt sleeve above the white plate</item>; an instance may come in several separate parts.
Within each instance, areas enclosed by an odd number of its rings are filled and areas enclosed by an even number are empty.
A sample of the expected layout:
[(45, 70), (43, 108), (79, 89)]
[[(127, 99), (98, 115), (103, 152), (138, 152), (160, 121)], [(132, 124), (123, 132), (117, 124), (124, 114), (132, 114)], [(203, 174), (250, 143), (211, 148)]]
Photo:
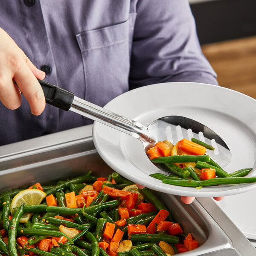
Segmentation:
[(139, 0), (131, 51), (130, 89), (189, 81), (215, 84), (187, 0)]

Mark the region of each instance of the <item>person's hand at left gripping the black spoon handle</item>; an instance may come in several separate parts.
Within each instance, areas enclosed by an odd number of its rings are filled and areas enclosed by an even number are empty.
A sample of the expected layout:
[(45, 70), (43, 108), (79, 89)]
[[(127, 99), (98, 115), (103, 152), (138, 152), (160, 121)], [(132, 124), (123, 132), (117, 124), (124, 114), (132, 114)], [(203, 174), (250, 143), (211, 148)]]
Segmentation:
[(31, 113), (40, 115), (45, 108), (45, 97), (37, 78), (44, 77), (45, 73), (38, 70), (0, 28), (0, 100), (3, 105), (12, 110), (19, 108), (22, 92), (29, 102)]

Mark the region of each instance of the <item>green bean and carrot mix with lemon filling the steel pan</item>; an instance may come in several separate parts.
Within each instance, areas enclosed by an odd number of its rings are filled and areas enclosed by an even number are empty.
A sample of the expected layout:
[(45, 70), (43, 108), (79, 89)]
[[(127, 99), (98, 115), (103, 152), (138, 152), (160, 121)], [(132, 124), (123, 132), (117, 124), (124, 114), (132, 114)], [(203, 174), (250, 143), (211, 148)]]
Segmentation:
[(0, 255), (166, 256), (198, 247), (148, 189), (113, 172), (0, 195)]

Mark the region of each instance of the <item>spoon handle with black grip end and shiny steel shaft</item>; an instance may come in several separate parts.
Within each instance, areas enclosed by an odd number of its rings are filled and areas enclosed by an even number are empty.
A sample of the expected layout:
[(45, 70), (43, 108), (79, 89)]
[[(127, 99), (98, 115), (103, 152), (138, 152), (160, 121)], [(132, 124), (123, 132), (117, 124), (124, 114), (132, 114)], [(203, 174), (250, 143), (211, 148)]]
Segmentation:
[(42, 80), (38, 81), (44, 90), (44, 96), (48, 104), (65, 111), (71, 110), (94, 121), (125, 132), (139, 140), (154, 141), (154, 138), (149, 136), (147, 127), (139, 122), (108, 111), (84, 99), (80, 99), (74, 96), (73, 93), (61, 89), (56, 85)]

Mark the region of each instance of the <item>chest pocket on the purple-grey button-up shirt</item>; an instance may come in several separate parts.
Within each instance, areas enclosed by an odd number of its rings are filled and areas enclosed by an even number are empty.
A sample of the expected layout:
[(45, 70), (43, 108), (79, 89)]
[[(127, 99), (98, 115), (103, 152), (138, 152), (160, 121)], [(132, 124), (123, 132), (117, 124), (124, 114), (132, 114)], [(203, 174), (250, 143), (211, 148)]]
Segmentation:
[(128, 90), (130, 54), (136, 14), (112, 26), (76, 35), (84, 66), (84, 98), (104, 106)]

